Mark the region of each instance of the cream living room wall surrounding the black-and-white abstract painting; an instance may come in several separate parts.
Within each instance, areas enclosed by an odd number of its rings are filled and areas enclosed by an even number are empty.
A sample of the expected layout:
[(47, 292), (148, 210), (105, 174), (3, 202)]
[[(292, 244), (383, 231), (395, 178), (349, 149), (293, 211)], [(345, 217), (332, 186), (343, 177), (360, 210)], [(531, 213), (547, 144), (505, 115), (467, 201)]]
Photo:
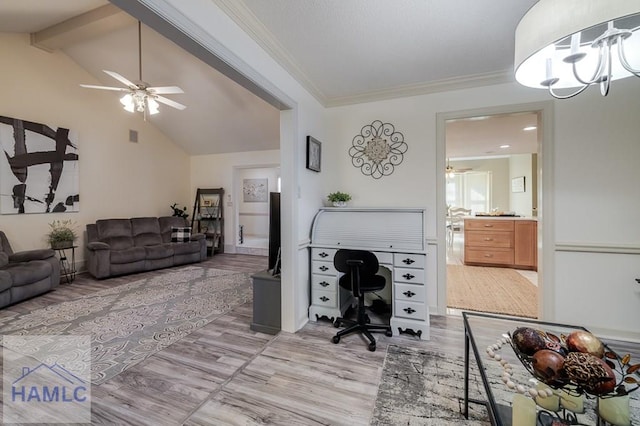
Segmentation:
[[(0, 33), (0, 57), (0, 115), (69, 128), (79, 148), (80, 211), (0, 216), (14, 250), (46, 246), (48, 223), (72, 219), (82, 267), (87, 223), (170, 215), (174, 202), (189, 205), (189, 158), (154, 127), (162, 113), (144, 122), (124, 111), (116, 95), (81, 88), (99, 82), (63, 53), (31, 47), (28, 34)], [(129, 129), (138, 131), (138, 143), (128, 141)]]

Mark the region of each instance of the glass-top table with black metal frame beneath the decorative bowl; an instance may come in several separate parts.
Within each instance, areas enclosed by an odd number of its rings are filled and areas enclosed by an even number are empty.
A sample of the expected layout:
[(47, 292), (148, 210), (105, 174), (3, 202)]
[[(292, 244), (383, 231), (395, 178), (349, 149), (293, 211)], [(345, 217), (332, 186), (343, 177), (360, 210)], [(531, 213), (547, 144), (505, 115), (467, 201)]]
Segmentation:
[[(609, 424), (597, 414), (598, 410), (600, 412), (622, 410), (622, 416), (616, 414), (618, 418), (622, 417), (622, 422), (613, 424), (625, 424), (624, 417), (627, 415), (630, 420), (626, 424), (640, 425), (640, 390), (631, 392), (626, 397), (606, 399), (552, 390), (534, 378), (507, 341), (507, 333), (513, 333), (519, 327), (543, 330), (556, 336), (568, 336), (576, 330), (587, 331), (584, 327), (468, 311), (464, 311), (462, 316), (465, 327), (465, 383), (462, 410), (466, 418), (469, 416), (469, 403), (478, 403), (487, 407), (491, 424), (499, 426)], [(619, 356), (631, 354), (629, 365), (640, 362), (639, 343), (601, 340), (607, 351), (614, 351)], [(478, 366), (486, 401), (469, 397), (470, 350), (473, 351)], [(499, 356), (496, 357), (496, 355)], [(505, 367), (504, 364), (507, 366)], [(503, 380), (505, 369), (510, 372), (508, 380)], [(632, 377), (640, 381), (638, 373), (632, 374)], [(509, 386), (506, 381), (511, 382)], [(540, 392), (542, 396), (533, 398), (529, 393), (530, 389), (542, 391)], [(550, 394), (551, 391), (554, 393)], [(535, 393), (533, 391), (534, 395)], [(547, 393), (546, 396), (545, 393)], [(624, 410), (628, 410), (629, 413), (624, 413)]]

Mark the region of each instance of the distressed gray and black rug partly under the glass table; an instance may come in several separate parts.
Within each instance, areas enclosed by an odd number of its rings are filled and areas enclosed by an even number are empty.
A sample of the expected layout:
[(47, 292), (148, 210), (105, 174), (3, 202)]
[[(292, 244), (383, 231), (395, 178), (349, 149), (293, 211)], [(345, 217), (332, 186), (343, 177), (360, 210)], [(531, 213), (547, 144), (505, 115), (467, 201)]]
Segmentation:
[[(471, 365), (474, 365), (471, 363)], [(470, 371), (469, 394), (482, 398), (482, 380)], [(372, 425), (488, 425), (484, 406), (469, 405), (462, 415), (464, 361), (459, 357), (389, 345), (378, 387)]]

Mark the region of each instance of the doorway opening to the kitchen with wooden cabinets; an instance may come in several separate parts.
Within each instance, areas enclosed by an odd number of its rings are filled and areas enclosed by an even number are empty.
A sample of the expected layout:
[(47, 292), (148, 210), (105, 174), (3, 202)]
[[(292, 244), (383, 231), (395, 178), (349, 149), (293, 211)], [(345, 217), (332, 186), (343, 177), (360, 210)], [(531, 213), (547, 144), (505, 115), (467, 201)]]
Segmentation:
[[(471, 211), (468, 213), (471, 219), (499, 216), (487, 219), (508, 219), (503, 223), (533, 223), (537, 226), (538, 203), (542, 199), (542, 185), (539, 184), (542, 163), (539, 160), (543, 120), (540, 108), (516, 108), (511, 111), (509, 108), (502, 111), (494, 108), (439, 118), (442, 118), (442, 123), (439, 122), (442, 131), (439, 133), (443, 139), (440, 152), (446, 164), (441, 180), (444, 188), (441, 197), (444, 198), (443, 210), (449, 212), (451, 208), (466, 208)], [(526, 189), (511, 187), (512, 182), (521, 181), (526, 182)], [(446, 214), (442, 223), (445, 227), (445, 244), (442, 250), (444, 255), (439, 260), (442, 259), (444, 263), (440, 270), (446, 278), (443, 280), (445, 285), (439, 285), (439, 300), (447, 307), (445, 313), (457, 314), (461, 308), (506, 315), (540, 315), (542, 307), (537, 302), (542, 299), (537, 263), (541, 262), (536, 260), (536, 266), (530, 270), (513, 265), (511, 268), (496, 267), (499, 262), (495, 265), (487, 262), (485, 265), (476, 263), (474, 259), (469, 259), (469, 263), (473, 264), (469, 266), (465, 262), (464, 222), (452, 226)], [(531, 250), (537, 254), (542, 246), (542, 228), (534, 228), (532, 232), (534, 240)], [(513, 247), (513, 240), (510, 244)], [(500, 280), (504, 282), (500, 283)], [(520, 294), (519, 287), (512, 285), (514, 280), (526, 287), (525, 293)], [(464, 281), (464, 297), (472, 301), (470, 305), (460, 304), (459, 297), (452, 297), (451, 293), (456, 289), (459, 292), (460, 281)], [(499, 291), (487, 291), (487, 285), (494, 285), (494, 282), (499, 289), (503, 289), (502, 296), (494, 296), (500, 294)], [(474, 294), (474, 291), (479, 293)], [(487, 293), (491, 296), (487, 297)], [(518, 297), (518, 303), (511, 301)], [(536, 303), (531, 303), (531, 300)], [(522, 311), (518, 305), (526, 309)], [(510, 311), (512, 308), (513, 311)]]

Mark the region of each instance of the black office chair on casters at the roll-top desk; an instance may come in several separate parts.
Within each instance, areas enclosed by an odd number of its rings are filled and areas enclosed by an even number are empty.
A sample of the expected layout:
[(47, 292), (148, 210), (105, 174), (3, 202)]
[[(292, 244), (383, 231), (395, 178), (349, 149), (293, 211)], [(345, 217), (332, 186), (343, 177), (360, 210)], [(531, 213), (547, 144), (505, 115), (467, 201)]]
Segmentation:
[(338, 250), (333, 258), (335, 268), (344, 272), (340, 277), (340, 287), (350, 290), (353, 297), (358, 299), (357, 320), (338, 318), (334, 325), (340, 327), (347, 325), (347, 328), (340, 330), (333, 336), (333, 343), (339, 343), (342, 336), (354, 332), (360, 332), (369, 339), (369, 350), (376, 350), (376, 339), (371, 335), (371, 331), (384, 331), (387, 336), (391, 336), (391, 326), (383, 324), (369, 324), (369, 317), (365, 312), (364, 294), (371, 291), (382, 290), (386, 284), (385, 278), (376, 275), (378, 272), (378, 259), (370, 251), (364, 250)]

